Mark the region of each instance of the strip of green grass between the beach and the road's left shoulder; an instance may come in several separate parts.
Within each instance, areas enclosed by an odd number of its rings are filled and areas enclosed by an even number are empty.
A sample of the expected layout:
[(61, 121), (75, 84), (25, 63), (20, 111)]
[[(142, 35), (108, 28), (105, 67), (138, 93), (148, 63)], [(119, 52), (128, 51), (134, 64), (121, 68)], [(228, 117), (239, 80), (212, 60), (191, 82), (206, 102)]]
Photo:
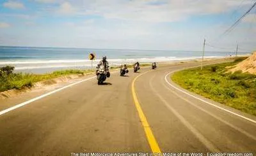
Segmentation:
[(23, 89), (24, 87), (32, 87), (34, 83), (66, 76), (70, 74), (85, 74), (92, 70), (68, 69), (54, 71), (47, 74), (28, 74), (28, 73), (9, 73), (0, 76), (0, 92), (10, 89)]

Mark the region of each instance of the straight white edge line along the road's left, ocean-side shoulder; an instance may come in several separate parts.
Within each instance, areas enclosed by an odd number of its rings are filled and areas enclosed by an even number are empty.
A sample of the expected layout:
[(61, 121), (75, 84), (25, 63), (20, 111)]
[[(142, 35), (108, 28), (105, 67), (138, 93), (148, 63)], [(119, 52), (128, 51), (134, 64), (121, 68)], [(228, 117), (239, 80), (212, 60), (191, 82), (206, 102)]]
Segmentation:
[(0, 111), (0, 115), (3, 115), (5, 113), (8, 113), (9, 111), (12, 111), (12, 110), (16, 110), (17, 108), (20, 108), (22, 106), (25, 106), (26, 104), (29, 104), (29, 103), (32, 103), (34, 101), (37, 101), (38, 99), (42, 99), (43, 97), (46, 97), (46, 96), (49, 96), (51, 94), (54, 94), (56, 92), (59, 92), (60, 90), (63, 90), (63, 89), (67, 89), (68, 87), (72, 87), (73, 85), (76, 85), (78, 83), (81, 83), (81, 82), (86, 82), (88, 80), (91, 80), (93, 78), (95, 78), (96, 76), (93, 76), (93, 77), (90, 77), (90, 78), (86, 78), (84, 80), (81, 80), (79, 82), (75, 82), (75, 83), (71, 83), (70, 85), (66, 85), (65, 87), (61, 87), (60, 89), (56, 89), (56, 90), (52, 90), (51, 92), (47, 92), (46, 94), (43, 94), (42, 96), (38, 96), (38, 97), (35, 97), (33, 99), (30, 99), (29, 101), (26, 101), (24, 103), (20, 103), (20, 104), (17, 104), (15, 106), (12, 106), (11, 108), (7, 108), (6, 110), (3, 110), (3, 111)]

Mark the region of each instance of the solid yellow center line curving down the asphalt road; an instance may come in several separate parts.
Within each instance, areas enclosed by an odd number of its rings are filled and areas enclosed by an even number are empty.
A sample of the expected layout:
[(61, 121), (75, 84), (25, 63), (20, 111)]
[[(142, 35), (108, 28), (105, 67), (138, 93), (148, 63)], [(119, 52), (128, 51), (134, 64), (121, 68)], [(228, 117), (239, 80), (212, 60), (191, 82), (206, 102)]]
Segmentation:
[[(148, 72), (146, 72), (146, 73), (148, 73)], [(145, 73), (143, 73), (143, 74), (145, 74)], [(133, 97), (136, 109), (139, 113), (141, 124), (143, 125), (143, 128), (146, 133), (148, 143), (150, 145), (152, 153), (161, 153), (161, 150), (157, 144), (156, 138), (154, 137), (154, 134), (153, 134), (152, 130), (150, 129), (150, 125), (147, 122), (147, 118), (145, 117), (143, 110), (141, 109), (140, 103), (138, 101), (138, 97), (136, 96), (134, 83), (136, 82), (137, 78), (141, 75), (142, 74), (136, 76), (136, 78), (134, 78), (134, 80), (132, 81), (132, 97)]]

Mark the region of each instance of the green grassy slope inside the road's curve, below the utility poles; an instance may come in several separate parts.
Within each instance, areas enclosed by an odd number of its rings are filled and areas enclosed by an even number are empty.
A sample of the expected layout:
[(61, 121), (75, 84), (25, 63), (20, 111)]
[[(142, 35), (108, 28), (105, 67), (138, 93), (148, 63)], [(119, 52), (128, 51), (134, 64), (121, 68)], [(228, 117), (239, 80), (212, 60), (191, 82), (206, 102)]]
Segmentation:
[(200, 67), (178, 71), (171, 78), (184, 89), (256, 116), (256, 75), (232, 74), (226, 68), (244, 59), (205, 66), (202, 71)]

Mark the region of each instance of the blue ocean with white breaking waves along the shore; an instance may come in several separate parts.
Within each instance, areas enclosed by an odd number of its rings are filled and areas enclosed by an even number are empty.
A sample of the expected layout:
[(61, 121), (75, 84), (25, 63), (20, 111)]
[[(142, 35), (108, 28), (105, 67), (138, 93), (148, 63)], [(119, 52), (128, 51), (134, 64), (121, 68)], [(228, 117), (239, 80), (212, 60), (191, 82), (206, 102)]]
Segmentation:
[[(0, 67), (15, 66), (15, 71), (26, 73), (49, 73), (60, 69), (90, 69), (89, 53), (95, 53), (93, 67), (103, 55), (110, 66), (134, 62), (169, 62), (175, 60), (199, 59), (202, 52), (179, 50), (113, 50), (90, 48), (42, 48), (0, 46)], [(239, 53), (244, 55), (247, 53)], [(234, 52), (205, 52), (205, 58), (227, 57)]]

